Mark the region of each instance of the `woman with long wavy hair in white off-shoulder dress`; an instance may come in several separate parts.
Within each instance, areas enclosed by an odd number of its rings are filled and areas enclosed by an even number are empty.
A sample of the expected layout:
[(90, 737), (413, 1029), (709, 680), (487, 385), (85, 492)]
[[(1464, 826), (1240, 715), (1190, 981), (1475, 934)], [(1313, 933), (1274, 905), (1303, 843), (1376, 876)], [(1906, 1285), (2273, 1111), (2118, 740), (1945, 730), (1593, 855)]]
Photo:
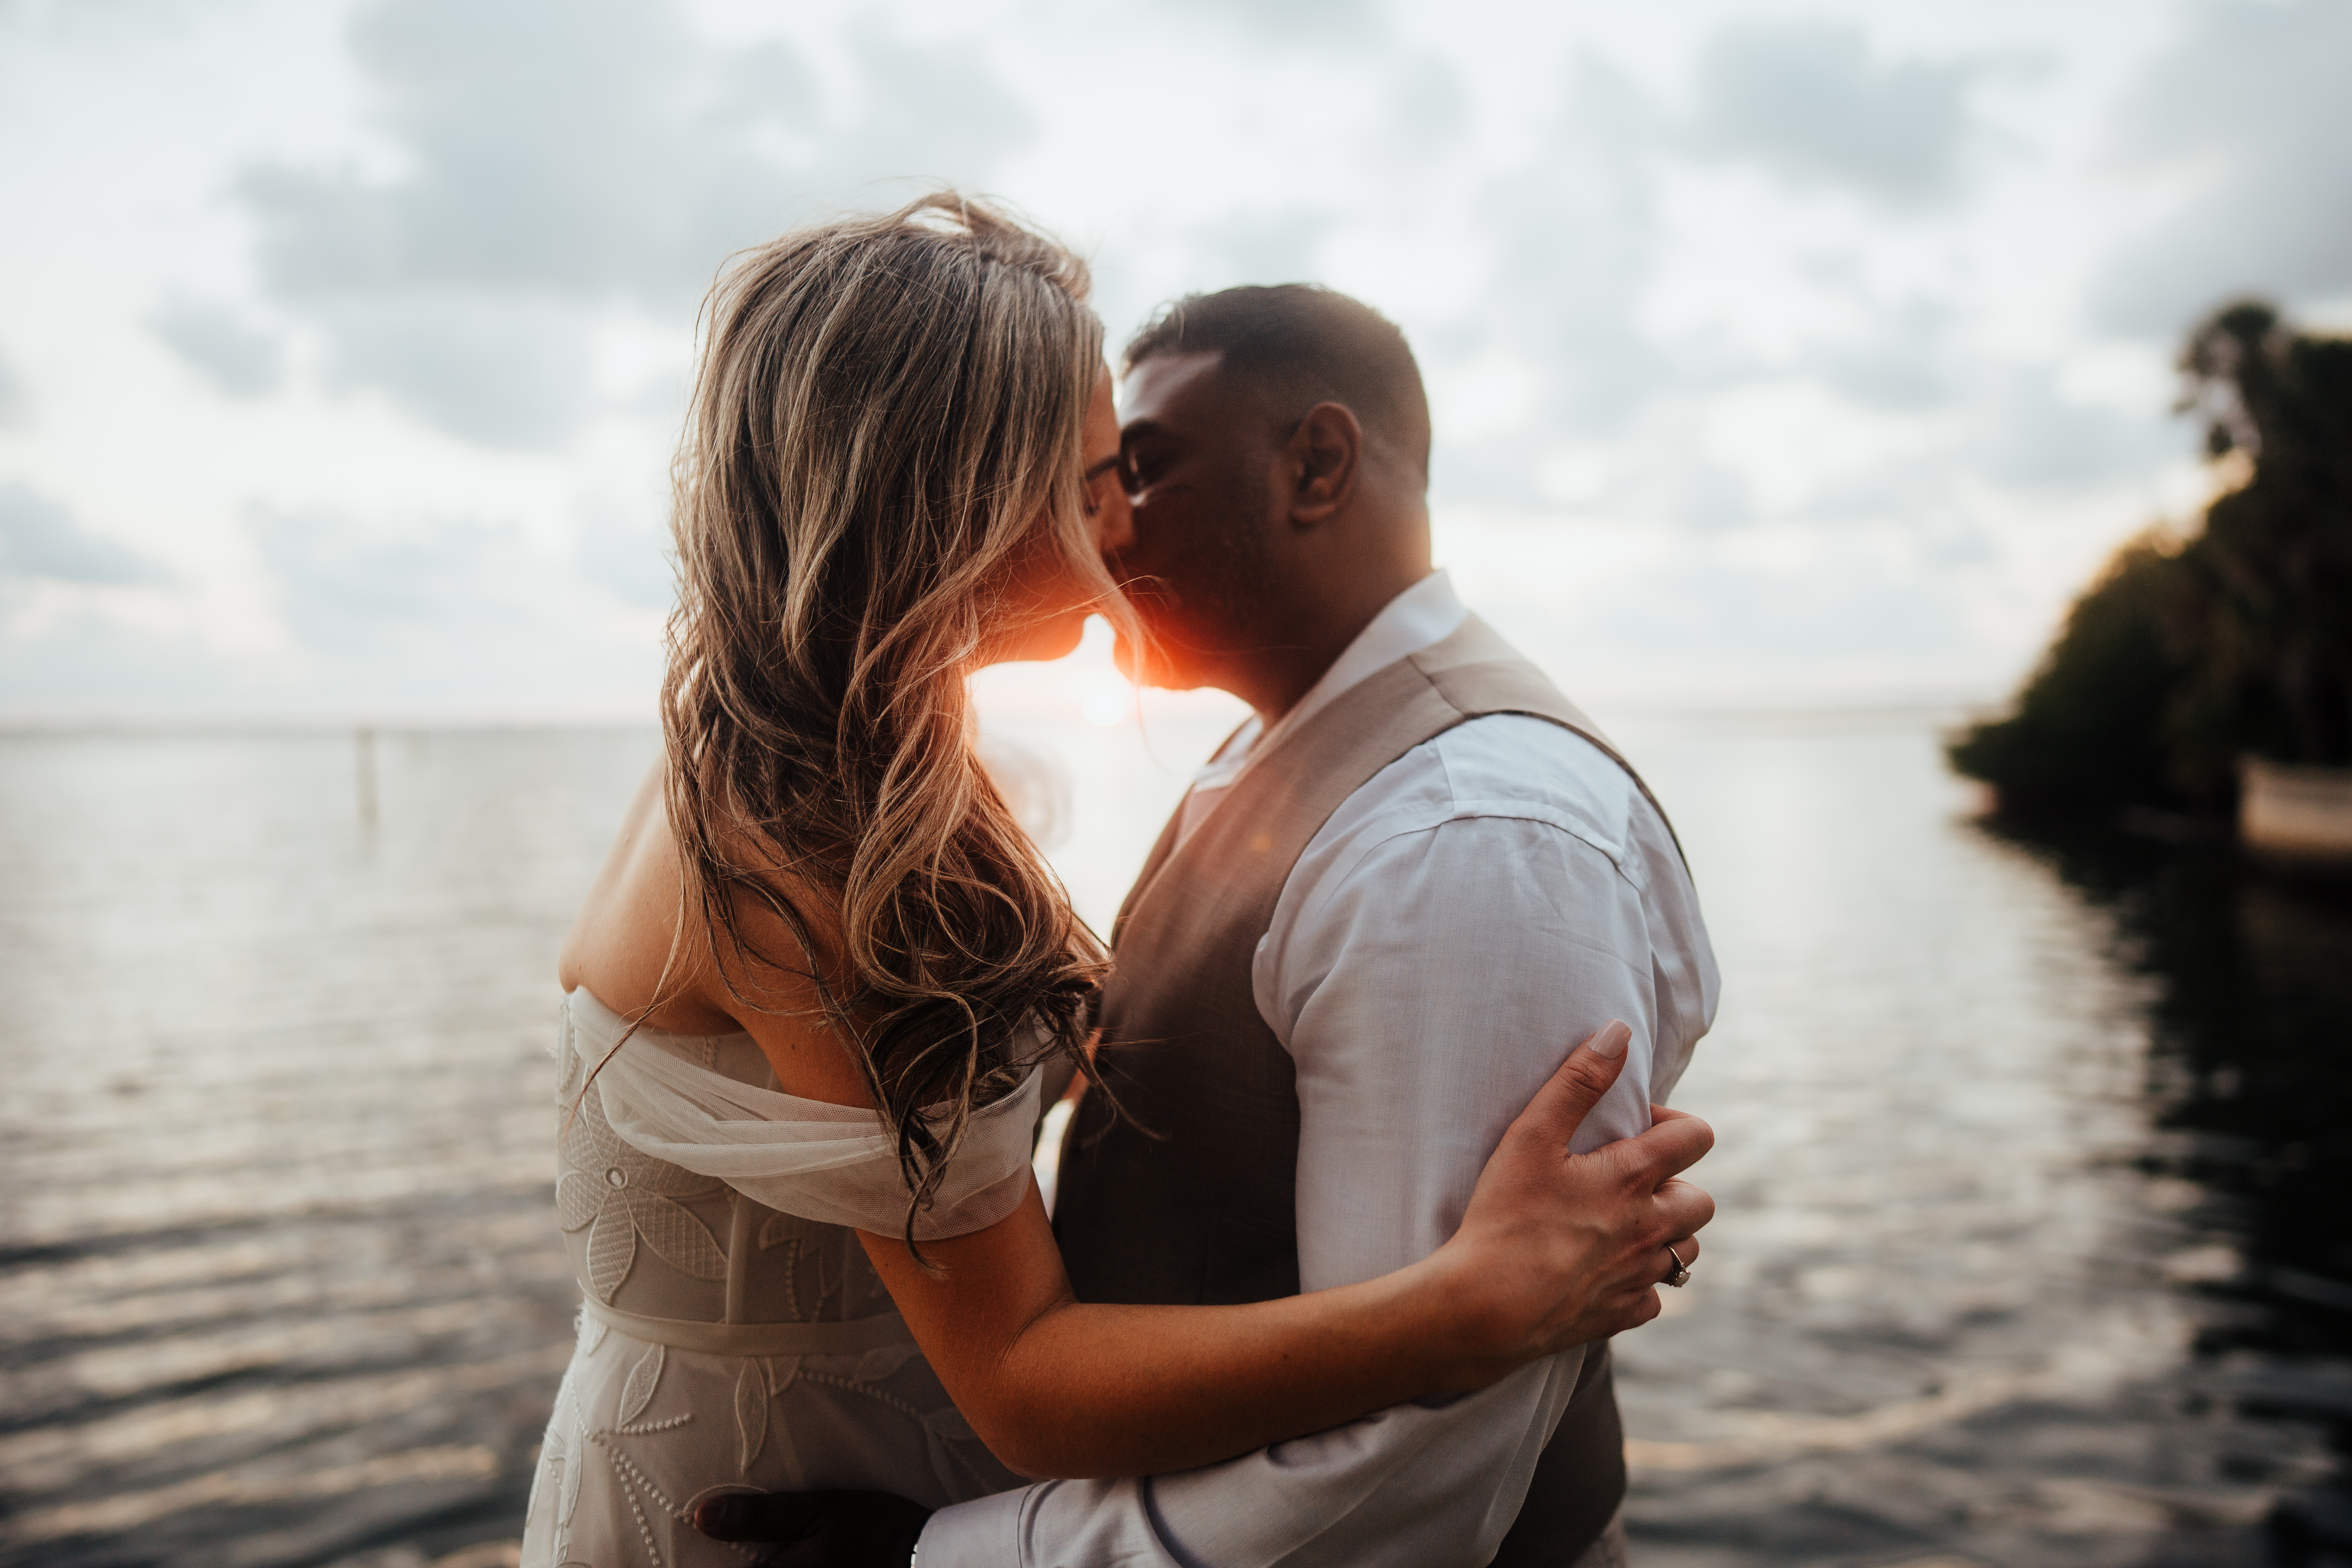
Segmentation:
[(562, 954), (586, 1302), (527, 1563), (741, 1561), (684, 1523), (741, 1486), (941, 1507), (1204, 1465), (1646, 1321), (1663, 1244), (1696, 1251), (1705, 1194), (1559, 1159), (1555, 1081), (1414, 1267), (1070, 1300), (1030, 1147), (1105, 954), (974, 759), (964, 682), (1127, 614), (1084, 292), (1061, 247), (934, 195), (750, 252), (713, 296), (666, 759)]

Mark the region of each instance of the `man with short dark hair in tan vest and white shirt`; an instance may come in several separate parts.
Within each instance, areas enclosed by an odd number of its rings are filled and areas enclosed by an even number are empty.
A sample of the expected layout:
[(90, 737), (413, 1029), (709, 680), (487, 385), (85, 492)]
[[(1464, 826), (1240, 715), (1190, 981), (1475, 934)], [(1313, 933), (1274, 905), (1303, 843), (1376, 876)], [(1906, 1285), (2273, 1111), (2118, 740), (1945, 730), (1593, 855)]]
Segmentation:
[[(1599, 731), (1430, 569), (1404, 336), (1315, 287), (1185, 299), (1127, 350), (1136, 677), (1254, 717), (1115, 929), (1063, 1143), (1080, 1300), (1369, 1279), (1458, 1225), (1559, 1041), (1632, 1025), (1573, 1147), (1639, 1133), (1715, 1013), (1689, 872)], [(1112, 1110), (1112, 1103), (1117, 1110)], [(922, 1568), (1623, 1561), (1606, 1345), (1225, 1465), (934, 1514)], [(844, 1559), (847, 1561), (847, 1559)]]

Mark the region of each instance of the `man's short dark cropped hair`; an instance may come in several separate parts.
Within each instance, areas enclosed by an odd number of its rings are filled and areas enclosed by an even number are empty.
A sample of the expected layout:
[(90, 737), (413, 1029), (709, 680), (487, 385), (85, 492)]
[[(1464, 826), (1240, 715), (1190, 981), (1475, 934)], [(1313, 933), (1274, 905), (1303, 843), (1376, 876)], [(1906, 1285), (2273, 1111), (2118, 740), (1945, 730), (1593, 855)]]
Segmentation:
[(1185, 294), (1127, 343), (1127, 371), (1160, 355), (1223, 355), (1221, 369), (1305, 414), (1345, 404), (1430, 477), (1430, 397), (1397, 324), (1312, 282)]

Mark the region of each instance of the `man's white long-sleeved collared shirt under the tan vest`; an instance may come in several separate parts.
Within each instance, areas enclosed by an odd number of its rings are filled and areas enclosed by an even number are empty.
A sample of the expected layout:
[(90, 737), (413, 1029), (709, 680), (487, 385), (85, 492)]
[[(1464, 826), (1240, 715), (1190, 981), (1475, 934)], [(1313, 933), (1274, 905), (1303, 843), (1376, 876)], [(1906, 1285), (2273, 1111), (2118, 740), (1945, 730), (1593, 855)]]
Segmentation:
[[(1279, 738), (1461, 625), (1435, 571), (1392, 599)], [(1263, 752), (1200, 771), (1190, 830)], [(1298, 1067), (1298, 1288), (1374, 1279), (1461, 1225), (1503, 1128), (1569, 1048), (1632, 1025), (1573, 1147), (1649, 1126), (1715, 1018), (1717, 971), (1672, 835), (1581, 736), (1489, 715), (1414, 748), (1308, 842), (1258, 943), (1258, 1013)], [(1484, 1566), (1519, 1514), (1576, 1356), (1171, 1476), (1040, 1481), (941, 1509), (922, 1568)]]

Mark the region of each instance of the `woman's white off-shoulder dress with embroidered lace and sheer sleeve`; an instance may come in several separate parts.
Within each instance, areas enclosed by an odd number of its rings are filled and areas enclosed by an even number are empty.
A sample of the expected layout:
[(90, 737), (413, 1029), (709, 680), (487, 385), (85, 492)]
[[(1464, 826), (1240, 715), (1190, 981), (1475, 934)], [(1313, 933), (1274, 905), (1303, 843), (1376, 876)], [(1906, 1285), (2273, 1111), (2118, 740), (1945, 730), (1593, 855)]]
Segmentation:
[[(637, 1030), (581, 1095), (626, 1027), (586, 990), (567, 997), (555, 1206), (583, 1300), (524, 1568), (755, 1561), (691, 1526), (713, 1490), (856, 1486), (936, 1509), (1021, 1486), (851, 1234), (906, 1222), (880, 1119), (781, 1093), (750, 1034)], [(1021, 1204), (1047, 1077), (974, 1114), (917, 1237)]]

